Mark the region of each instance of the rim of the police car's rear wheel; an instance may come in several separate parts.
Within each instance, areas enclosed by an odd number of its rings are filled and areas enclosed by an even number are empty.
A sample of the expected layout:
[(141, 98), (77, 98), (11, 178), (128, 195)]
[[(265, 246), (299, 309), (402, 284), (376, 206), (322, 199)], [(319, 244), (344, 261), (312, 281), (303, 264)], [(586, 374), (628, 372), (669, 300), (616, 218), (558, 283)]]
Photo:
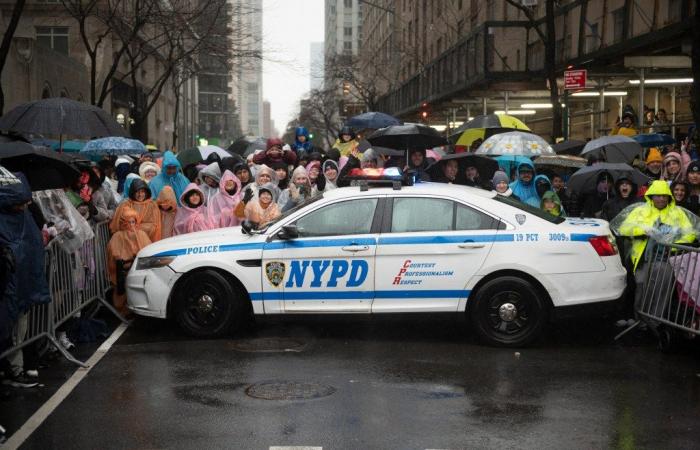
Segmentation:
[(527, 330), (532, 323), (532, 305), (517, 291), (502, 291), (488, 303), (486, 322), (495, 333), (512, 336)]

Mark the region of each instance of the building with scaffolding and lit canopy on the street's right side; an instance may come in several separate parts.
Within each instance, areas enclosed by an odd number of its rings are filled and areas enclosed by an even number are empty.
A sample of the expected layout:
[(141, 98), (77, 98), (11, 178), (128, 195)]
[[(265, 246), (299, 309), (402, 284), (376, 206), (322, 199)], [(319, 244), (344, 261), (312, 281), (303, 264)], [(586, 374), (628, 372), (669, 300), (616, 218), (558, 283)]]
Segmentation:
[[(500, 0), (363, 4), (362, 72), (381, 86), (379, 109), (418, 121), (427, 108), (431, 124), (448, 127), (477, 114), (507, 111), (550, 134), (545, 46), (534, 28), (545, 30), (547, 1), (527, 2), (534, 21)], [(567, 117), (562, 133), (606, 134), (625, 105), (638, 116), (644, 106), (664, 109), (687, 128), (692, 14), (692, 2), (682, 0), (555, 1), (557, 74), (563, 78), (567, 68), (588, 73), (586, 89), (560, 89)], [(626, 57), (640, 56), (678, 60), (663, 69), (650, 62), (645, 76), (652, 81), (640, 84), (641, 68), (625, 64)], [(380, 77), (376, 67), (393, 71)]]

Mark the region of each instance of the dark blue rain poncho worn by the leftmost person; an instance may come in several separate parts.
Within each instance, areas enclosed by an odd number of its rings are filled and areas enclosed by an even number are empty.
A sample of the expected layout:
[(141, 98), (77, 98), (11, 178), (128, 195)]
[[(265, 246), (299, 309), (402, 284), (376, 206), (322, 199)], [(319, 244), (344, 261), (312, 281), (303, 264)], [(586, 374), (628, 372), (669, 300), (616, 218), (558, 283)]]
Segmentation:
[(22, 183), (0, 186), (0, 247), (8, 247), (15, 259), (15, 271), (3, 273), (4, 292), (0, 302), (0, 334), (32, 305), (51, 301), (44, 273), (44, 246), (41, 232), (28, 209), (8, 210), (9, 206), (26, 203), (32, 198), (29, 183), (17, 174)]

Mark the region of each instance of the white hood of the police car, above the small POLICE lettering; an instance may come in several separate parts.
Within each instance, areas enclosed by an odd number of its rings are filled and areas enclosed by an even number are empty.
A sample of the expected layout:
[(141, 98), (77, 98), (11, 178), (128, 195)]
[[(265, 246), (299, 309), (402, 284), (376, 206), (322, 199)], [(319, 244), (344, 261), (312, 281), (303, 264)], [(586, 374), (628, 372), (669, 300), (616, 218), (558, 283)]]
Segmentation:
[(211, 253), (216, 252), (222, 245), (258, 243), (264, 240), (264, 236), (243, 234), (240, 226), (219, 228), (163, 239), (144, 247), (139, 252), (138, 257)]

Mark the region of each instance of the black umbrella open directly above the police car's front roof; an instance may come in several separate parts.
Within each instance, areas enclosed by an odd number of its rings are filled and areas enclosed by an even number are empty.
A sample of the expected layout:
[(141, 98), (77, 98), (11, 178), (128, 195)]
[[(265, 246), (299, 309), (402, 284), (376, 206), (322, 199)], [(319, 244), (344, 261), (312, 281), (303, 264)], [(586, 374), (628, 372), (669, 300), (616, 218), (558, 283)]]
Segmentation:
[(396, 150), (425, 150), (447, 145), (435, 128), (417, 123), (380, 128), (367, 138), (370, 144)]

